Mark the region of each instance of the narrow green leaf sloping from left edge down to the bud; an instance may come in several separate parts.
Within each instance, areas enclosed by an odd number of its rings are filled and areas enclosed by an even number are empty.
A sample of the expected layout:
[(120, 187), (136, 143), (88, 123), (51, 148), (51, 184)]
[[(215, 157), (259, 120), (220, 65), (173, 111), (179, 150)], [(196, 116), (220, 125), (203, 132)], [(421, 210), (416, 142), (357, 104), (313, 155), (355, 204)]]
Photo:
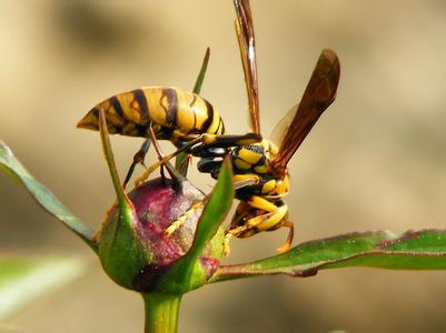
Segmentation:
[(51, 215), (62, 222), (68, 229), (73, 231), (91, 249), (96, 249), (92, 241), (92, 229), (75, 216), (52, 192), (43, 184), (32, 178), (32, 175), (16, 159), (11, 150), (0, 141), (0, 170), (18, 180), (31, 193), (37, 202)]

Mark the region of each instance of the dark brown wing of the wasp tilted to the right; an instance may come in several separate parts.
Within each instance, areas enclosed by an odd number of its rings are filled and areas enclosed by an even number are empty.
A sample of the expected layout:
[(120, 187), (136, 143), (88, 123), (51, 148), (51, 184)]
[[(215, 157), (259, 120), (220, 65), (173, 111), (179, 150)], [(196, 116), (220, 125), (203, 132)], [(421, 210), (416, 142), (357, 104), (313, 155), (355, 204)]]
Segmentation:
[(333, 103), (339, 82), (339, 59), (331, 50), (323, 50), (305, 89), (295, 118), (280, 143), (279, 153), (271, 162), (275, 175), (283, 178), (286, 168), (320, 114)]

